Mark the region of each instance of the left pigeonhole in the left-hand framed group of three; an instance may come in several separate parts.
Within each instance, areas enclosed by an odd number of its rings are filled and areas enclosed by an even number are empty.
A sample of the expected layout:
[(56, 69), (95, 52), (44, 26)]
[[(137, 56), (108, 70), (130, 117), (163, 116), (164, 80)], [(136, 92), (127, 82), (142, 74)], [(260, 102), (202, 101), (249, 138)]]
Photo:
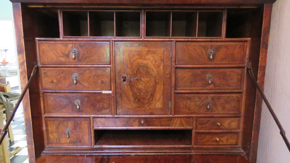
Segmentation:
[(88, 11), (62, 11), (64, 36), (89, 36)]

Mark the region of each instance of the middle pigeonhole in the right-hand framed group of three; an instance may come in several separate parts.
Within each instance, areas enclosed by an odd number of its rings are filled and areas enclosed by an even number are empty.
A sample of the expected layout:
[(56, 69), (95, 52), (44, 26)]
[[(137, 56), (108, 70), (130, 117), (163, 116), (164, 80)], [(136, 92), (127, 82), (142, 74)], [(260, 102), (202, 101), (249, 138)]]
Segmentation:
[(172, 12), (172, 37), (196, 37), (197, 12)]

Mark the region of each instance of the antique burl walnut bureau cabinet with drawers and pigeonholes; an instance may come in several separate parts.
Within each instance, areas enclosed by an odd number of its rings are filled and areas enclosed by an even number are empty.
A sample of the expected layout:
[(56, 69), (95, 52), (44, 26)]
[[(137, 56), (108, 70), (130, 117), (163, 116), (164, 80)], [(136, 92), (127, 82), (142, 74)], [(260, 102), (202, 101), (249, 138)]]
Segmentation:
[[(255, 162), (274, 0), (11, 0), (30, 162), (41, 155)], [(48, 156), (49, 157), (49, 156)], [(59, 156), (58, 156), (59, 157)]]

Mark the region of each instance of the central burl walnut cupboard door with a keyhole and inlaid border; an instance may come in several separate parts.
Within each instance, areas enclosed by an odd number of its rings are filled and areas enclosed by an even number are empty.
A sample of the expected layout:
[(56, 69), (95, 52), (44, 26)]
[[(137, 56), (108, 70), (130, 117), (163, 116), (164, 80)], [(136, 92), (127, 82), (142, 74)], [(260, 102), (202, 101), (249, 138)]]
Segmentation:
[(169, 115), (171, 42), (115, 42), (117, 115)]

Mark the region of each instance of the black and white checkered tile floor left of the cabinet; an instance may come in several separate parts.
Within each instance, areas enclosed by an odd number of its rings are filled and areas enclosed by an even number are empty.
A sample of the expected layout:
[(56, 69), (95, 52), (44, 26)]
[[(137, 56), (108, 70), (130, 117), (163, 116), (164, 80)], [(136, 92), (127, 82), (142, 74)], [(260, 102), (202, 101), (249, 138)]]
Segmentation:
[(14, 134), (14, 141), (7, 142), (8, 150), (12, 151), (17, 146), (21, 147), (21, 151), (10, 157), (11, 163), (28, 163), (28, 151), (26, 143), (26, 133), (24, 127), (23, 114), (15, 115), (14, 122), (11, 123), (12, 131)]

